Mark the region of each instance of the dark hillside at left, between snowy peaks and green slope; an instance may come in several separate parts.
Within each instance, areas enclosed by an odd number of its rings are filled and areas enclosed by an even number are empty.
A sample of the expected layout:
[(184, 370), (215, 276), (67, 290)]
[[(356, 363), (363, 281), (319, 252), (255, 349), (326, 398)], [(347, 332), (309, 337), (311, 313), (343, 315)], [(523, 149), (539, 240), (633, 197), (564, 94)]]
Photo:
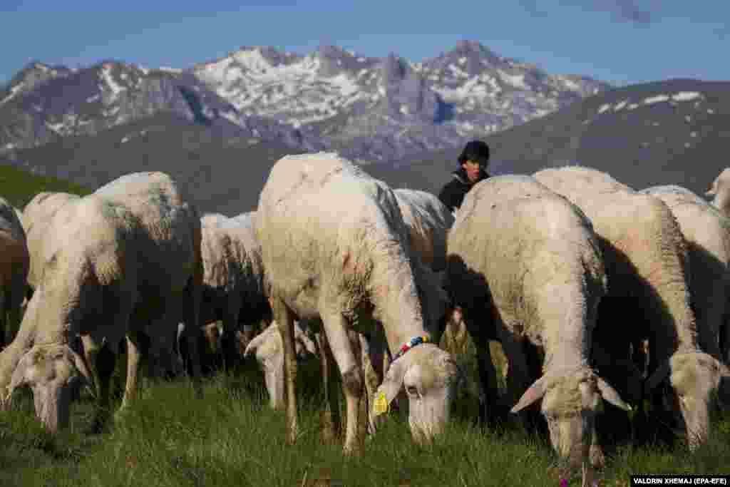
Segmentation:
[(92, 191), (130, 172), (162, 171), (187, 188), (202, 211), (238, 215), (258, 206), (274, 162), (301, 152), (258, 139), (222, 137), (206, 125), (161, 113), (97, 135), (20, 149), (7, 164)]

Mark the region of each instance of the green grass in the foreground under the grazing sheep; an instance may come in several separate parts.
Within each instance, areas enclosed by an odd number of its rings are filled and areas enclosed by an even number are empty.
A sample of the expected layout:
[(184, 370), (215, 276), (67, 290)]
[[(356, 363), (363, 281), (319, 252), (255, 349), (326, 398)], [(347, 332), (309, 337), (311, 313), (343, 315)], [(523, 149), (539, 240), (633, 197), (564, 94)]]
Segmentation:
[[(473, 374), (472, 361), (465, 364)], [(316, 368), (316, 367), (315, 367)], [(146, 382), (139, 400), (99, 435), (91, 398), (74, 405), (69, 431), (56, 437), (35, 421), (23, 391), (14, 410), (0, 414), (1, 486), (557, 486), (556, 458), (543, 440), (508, 427), (472, 425), (476, 398), (461, 400), (459, 417), (432, 445), (410, 440), (407, 418), (391, 413), (361, 456), (320, 440), (317, 370), (307, 382), (301, 437), (285, 444), (283, 413), (269, 410), (260, 372), (216, 375), (197, 396), (186, 380)], [(115, 377), (117, 388), (123, 372)], [(119, 402), (118, 394), (116, 396)], [(618, 448), (599, 472), (602, 486), (628, 486), (637, 473), (728, 473), (730, 415), (715, 423), (710, 442), (693, 455), (682, 448)], [(324, 479), (331, 479), (327, 483)], [(410, 483), (405, 480), (409, 480)], [(337, 483), (339, 481), (340, 483)], [(569, 485), (580, 485), (573, 478)]]

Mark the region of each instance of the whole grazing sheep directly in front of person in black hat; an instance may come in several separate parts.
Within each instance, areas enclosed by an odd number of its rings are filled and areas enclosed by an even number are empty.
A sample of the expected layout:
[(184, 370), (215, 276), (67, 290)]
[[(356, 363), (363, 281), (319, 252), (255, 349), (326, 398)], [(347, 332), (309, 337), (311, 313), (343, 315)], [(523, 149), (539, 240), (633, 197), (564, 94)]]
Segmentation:
[[(629, 409), (589, 364), (596, 311), (606, 294), (591, 222), (533, 177), (491, 177), (464, 198), (447, 259), (451, 291), (477, 343), (485, 394), (496, 394), (487, 363), (487, 339), (496, 336), (510, 364), (512, 413), (542, 399), (553, 448), (590, 475), (602, 399)], [(535, 364), (531, 348), (544, 356), (542, 364)]]

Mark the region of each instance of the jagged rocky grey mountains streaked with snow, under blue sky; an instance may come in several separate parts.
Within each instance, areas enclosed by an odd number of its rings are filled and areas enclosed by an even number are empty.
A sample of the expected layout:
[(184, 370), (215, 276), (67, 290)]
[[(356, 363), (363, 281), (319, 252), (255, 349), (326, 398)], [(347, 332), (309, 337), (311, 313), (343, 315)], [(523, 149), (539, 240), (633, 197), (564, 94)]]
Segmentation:
[(0, 151), (93, 135), (167, 112), (226, 139), (393, 161), (538, 118), (611, 88), (464, 41), (418, 63), (337, 46), (241, 47), (188, 69), (34, 62), (0, 89)]

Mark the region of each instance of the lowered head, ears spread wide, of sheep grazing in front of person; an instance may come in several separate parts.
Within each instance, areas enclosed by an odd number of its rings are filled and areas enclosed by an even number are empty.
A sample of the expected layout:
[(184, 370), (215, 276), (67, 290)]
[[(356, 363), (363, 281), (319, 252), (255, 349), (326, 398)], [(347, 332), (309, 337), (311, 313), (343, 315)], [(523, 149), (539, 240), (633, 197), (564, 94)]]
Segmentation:
[(550, 442), (561, 457), (569, 459), (572, 467), (587, 464), (595, 418), (602, 411), (602, 400), (631, 410), (618, 392), (588, 367), (543, 375), (525, 391), (512, 407), (512, 413), (518, 413), (539, 399), (542, 399), (542, 415), (548, 421)]

